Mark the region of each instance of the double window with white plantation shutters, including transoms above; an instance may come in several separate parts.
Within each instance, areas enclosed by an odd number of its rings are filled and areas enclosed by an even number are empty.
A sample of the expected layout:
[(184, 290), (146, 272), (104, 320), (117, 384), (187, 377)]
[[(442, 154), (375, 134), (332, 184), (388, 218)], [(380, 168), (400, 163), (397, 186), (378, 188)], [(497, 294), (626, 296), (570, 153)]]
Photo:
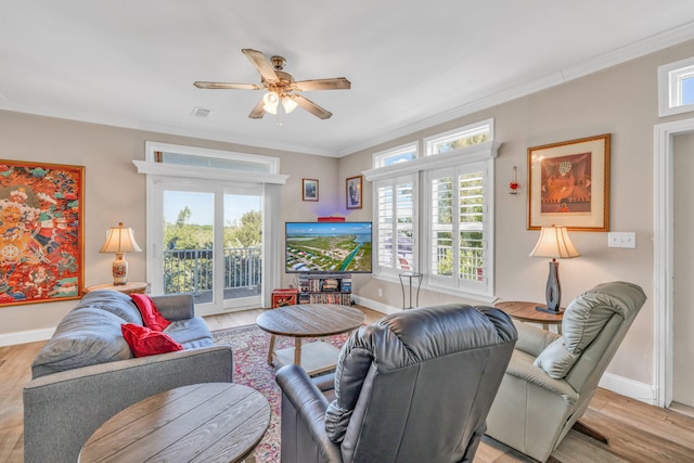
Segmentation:
[[(376, 276), (424, 275), (422, 288), (491, 301), (493, 120), (374, 154)], [(417, 146), (424, 146), (420, 155)]]

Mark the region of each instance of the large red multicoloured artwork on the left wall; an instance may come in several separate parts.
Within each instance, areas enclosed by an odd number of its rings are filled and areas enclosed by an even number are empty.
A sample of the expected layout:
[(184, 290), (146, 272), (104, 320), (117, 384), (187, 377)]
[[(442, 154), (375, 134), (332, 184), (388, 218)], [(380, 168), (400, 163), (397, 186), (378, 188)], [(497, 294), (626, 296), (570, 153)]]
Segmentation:
[(0, 307), (77, 299), (85, 168), (0, 159)]

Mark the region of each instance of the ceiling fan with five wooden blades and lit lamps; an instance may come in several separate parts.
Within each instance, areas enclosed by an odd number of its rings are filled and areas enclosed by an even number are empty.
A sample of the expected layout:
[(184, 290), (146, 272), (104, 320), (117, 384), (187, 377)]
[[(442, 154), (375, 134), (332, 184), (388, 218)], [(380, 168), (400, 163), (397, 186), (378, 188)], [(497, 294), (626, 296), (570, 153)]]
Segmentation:
[(250, 60), (260, 73), (260, 85), (233, 83), (233, 82), (206, 82), (195, 81), (198, 89), (236, 89), (236, 90), (267, 90), (262, 100), (256, 104), (248, 117), (261, 118), (265, 113), (277, 114), (278, 105), (282, 103), (284, 111), (291, 113), (300, 106), (321, 119), (327, 119), (333, 114), (313, 103), (309, 99), (295, 92), (316, 90), (348, 90), (351, 82), (344, 77), (332, 79), (313, 79), (295, 81), (291, 74), (282, 70), (286, 60), (282, 56), (272, 56), (270, 60), (262, 52), (250, 49), (241, 50)]

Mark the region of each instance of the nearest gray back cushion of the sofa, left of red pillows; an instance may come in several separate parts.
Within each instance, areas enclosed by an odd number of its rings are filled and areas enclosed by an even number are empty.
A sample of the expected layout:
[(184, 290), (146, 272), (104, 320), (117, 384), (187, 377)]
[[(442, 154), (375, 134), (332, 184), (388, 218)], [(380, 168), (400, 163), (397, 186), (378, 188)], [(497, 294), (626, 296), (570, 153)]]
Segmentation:
[(95, 307), (70, 311), (31, 363), (33, 377), (132, 358), (123, 338), (124, 320)]

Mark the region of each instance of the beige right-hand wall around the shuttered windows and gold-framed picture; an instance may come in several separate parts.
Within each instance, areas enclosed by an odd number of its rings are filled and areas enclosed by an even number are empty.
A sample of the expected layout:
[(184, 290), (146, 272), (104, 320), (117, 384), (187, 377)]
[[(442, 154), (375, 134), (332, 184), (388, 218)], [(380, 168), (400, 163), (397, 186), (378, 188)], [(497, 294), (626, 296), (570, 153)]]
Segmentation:
[[(580, 258), (561, 262), (562, 300), (593, 285), (624, 280), (641, 285), (650, 299), (617, 352), (609, 372), (653, 384), (653, 127), (669, 121), (657, 114), (657, 67), (694, 56), (694, 42), (628, 62), (509, 103), (449, 121), (339, 159), (339, 177), (371, 167), (374, 152), (398, 146), (448, 129), (493, 117), (502, 142), (496, 160), (496, 290), (505, 300), (544, 299), (547, 259), (528, 257), (539, 232), (527, 226), (527, 149), (552, 142), (612, 133), (611, 230), (637, 233), (637, 248), (608, 248), (607, 233), (573, 232)], [(689, 115), (689, 117), (693, 117)], [(507, 194), (513, 166), (520, 189)], [(367, 185), (367, 190), (371, 188)], [(367, 203), (371, 208), (371, 203)], [(361, 214), (370, 214), (363, 210)], [(378, 288), (383, 297), (378, 297)], [(399, 306), (399, 283), (371, 279), (359, 295)], [(420, 305), (461, 300), (423, 291)], [(394, 304), (395, 301), (395, 304)]]

